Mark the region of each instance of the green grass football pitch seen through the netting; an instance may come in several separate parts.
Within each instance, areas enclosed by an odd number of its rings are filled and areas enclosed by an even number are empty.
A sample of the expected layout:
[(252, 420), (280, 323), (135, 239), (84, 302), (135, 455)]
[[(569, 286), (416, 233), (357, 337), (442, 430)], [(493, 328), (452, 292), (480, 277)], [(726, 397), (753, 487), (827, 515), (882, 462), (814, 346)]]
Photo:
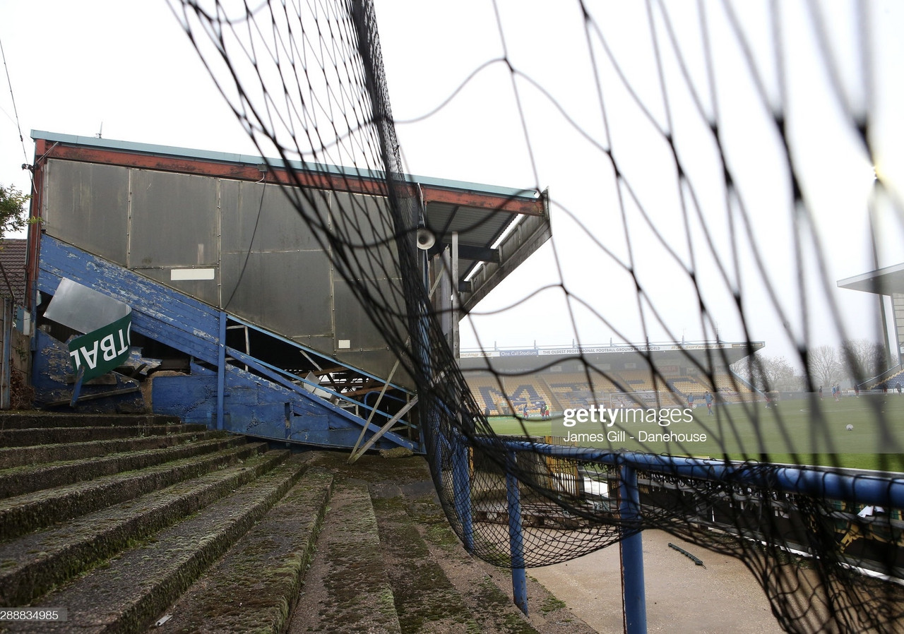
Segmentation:
[[(904, 395), (869, 394), (677, 410), (577, 412), (520, 419), (491, 416), (496, 434), (552, 436), (555, 443), (732, 460), (904, 471)], [(568, 423), (568, 424), (567, 424)], [(850, 428), (849, 428), (850, 427)]]

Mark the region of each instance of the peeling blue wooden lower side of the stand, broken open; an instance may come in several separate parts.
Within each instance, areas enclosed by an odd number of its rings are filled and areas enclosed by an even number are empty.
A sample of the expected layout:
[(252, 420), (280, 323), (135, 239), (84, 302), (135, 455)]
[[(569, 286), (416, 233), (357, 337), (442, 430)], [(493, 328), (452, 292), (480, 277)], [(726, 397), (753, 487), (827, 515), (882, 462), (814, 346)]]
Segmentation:
[[(153, 412), (265, 440), (422, 451), (415, 395), (392, 372), (378, 378), (50, 236), (37, 285), (32, 383), (43, 409)], [(57, 312), (83, 312), (93, 296), (127, 306), (135, 352), (129, 367), (80, 388), (74, 407), (72, 329), (43, 317), (64, 285), (84, 297)]]

